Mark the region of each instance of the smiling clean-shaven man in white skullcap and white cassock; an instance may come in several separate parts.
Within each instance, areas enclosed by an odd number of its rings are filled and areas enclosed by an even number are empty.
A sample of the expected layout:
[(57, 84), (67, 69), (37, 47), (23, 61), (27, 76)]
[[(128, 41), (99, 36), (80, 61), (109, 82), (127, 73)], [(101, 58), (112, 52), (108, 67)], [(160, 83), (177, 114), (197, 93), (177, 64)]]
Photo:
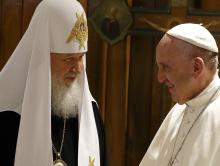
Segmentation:
[(220, 80), (218, 48), (203, 26), (170, 29), (156, 49), (158, 80), (167, 85), (171, 109), (140, 166), (218, 166)]

